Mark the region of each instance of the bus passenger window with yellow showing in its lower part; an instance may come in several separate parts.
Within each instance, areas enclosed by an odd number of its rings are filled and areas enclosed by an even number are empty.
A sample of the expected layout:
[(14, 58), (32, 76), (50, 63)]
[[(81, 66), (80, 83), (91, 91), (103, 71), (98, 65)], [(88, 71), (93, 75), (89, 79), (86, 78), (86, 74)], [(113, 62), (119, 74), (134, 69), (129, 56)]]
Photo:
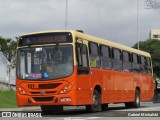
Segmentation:
[(90, 42), (89, 43), (90, 52), (90, 66), (95, 68), (100, 68), (100, 58), (99, 58), (99, 48), (98, 44)]

